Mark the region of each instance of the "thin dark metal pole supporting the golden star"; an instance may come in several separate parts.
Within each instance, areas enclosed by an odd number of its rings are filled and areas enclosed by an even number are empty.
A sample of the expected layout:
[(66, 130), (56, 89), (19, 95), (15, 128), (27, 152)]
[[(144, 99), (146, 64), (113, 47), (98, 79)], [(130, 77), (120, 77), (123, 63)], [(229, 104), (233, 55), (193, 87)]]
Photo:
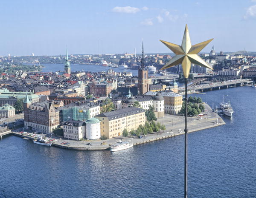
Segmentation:
[(184, 197), (188, 197), (188, 129), (187, 129), (187, 111), (188, 111), (188, 79), (185, 78), (185, 156), (184, 156)]

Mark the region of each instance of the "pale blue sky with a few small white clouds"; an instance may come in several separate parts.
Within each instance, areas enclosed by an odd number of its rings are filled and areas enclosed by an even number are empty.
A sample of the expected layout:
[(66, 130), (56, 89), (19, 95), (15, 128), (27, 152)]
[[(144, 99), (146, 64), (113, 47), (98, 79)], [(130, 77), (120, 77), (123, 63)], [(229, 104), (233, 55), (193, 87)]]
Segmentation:
[(203, 50), (256, 51), (256, 0), (1, 1), (0, 56), (170, 52), (186, 23)]

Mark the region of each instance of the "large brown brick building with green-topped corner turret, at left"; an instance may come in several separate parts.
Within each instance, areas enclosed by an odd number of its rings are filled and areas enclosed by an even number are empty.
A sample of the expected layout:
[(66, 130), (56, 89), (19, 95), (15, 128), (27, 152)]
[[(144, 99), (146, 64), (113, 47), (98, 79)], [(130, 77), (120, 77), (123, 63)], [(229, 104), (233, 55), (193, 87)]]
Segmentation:
[(51, 134), (52, 130), (59, 126), (59, 111), (55, 109), (53, 102), (33, 103), (28, 95), (23, 102), (24, 128)]

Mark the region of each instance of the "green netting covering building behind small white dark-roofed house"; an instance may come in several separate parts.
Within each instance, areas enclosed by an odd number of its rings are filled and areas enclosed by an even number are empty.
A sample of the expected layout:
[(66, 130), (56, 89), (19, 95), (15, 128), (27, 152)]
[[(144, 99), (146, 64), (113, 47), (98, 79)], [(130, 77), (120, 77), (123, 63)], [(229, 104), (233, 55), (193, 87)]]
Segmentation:
[(79, 106), (64, 108), (62, 111), (63, 122), (68, 120), (86, 121), (90, 118), (89, 113), (89, 109)]

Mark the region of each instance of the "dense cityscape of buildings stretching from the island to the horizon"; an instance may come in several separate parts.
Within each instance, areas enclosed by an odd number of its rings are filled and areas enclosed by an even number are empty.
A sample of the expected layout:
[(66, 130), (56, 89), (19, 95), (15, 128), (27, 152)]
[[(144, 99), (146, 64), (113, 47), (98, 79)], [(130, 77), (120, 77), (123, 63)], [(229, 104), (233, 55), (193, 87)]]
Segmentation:
[[(217, 54), (214, 46), (200, 56), (214, 70), (192, 64), (190, 93), (203, 91), (204, 87), (198, 85), (211, 85), (212, 89), (216, 82), (256, 77), (256, 57), (222, 51)], [(170, 54), (144, 54), (143, 45), (142, 54), (134, 50), (134, 54), (68, 55), (67, 49), (64, 56), (9, 54), (0, 58), (0, 116), (9, 119), (23, 113), (23, 131), (76, 141), (127, 136), (124, 131), (146, 135), (141, 127), (166, 115), (182, 114), (181, 65), (160, 71), (170, 59)], [(58, 72), (40, 72), (49, 63), (63, 66)], [(74, 64), (109, 69), (72, 71)], [(114, 71), (116, 68), (122, 71)], [(137, 75), (129, 69), (137, 70)], [(245, 81), (235, 83), (243, 85)], [(198, 107), (193, 116), (204, 111), (202, 105)]]

